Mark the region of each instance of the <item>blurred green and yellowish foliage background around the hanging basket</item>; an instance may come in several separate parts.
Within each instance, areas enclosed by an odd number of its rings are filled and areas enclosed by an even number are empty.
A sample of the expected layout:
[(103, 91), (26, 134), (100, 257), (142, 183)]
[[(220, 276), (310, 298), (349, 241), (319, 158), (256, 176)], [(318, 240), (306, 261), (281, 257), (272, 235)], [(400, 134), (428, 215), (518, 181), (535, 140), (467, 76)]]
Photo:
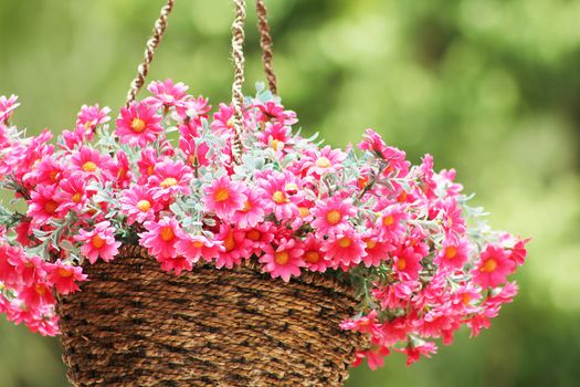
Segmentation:
[[(253, 7), (253, 1), (247, 0)], [(161, 0), (0, 0), (0, 94), (15, 123), (117, 114)], [(580, 1), (270, 0), (280, 92), (335, 146), (367, 127), (455, 167), (494, 228), (532, 237), (520, 295), (477, 339), (411, 368), (394, 354), (347, 386), (580, 386)], [(230, 95), (232, 4), (178, 1), (149, 80)], [(263, 80), (249, 12), (247, 85)], [(66, 386), (55, 338), (0, 317), (0, 386)]]

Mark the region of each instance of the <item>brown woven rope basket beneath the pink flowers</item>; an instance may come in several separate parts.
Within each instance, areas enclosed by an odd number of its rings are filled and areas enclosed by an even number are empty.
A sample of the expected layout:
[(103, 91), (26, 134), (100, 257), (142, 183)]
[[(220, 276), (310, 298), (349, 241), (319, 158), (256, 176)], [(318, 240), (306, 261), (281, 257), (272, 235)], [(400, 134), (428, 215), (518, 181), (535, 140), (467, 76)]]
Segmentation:
[(351, 290), (318, 274), (284, 283), (249, 263), (177, 276), (135, 245), (85, 272), (57, 306), (75, 386), (341, 386), (362, 344), (338, 326)]

